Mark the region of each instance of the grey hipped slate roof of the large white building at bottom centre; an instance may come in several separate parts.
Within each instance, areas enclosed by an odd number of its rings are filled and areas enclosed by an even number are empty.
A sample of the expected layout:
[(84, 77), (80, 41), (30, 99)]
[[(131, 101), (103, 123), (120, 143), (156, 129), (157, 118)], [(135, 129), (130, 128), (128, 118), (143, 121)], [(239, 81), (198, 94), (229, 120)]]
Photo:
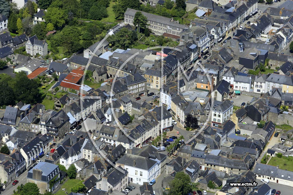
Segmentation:
[(135, 168), (139, 168), (142, 170), (149, 170), (152, 168), (157, 162), (151, 160), (147, 157), (137, 156), (134, 154), (125, 154), (118, 161), (117, 164), (127, 165)]

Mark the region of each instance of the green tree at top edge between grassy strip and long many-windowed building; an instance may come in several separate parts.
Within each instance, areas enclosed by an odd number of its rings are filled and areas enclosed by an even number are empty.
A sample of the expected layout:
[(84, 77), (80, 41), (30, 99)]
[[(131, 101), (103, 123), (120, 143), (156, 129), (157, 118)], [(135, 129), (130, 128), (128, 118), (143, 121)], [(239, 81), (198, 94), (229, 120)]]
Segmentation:
[(113, 11), (117, 20), (123, 20), (127, 8), (139, 10), (139, 7), (139, 0), (118, 0), (118, 3), (113, 6)]

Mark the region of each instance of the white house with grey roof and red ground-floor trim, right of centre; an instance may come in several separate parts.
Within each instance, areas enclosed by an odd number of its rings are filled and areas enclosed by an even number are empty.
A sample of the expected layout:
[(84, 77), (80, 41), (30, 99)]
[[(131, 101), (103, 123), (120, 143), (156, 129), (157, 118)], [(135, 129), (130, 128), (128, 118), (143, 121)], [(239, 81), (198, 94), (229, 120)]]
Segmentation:
[(214, 101), (214, 106), (212, 108), (212, 126), (218, 127), (219, 124), (222, 124), (224, 121), (229, 119), (232, 115), (233, 104), (229, 100)]

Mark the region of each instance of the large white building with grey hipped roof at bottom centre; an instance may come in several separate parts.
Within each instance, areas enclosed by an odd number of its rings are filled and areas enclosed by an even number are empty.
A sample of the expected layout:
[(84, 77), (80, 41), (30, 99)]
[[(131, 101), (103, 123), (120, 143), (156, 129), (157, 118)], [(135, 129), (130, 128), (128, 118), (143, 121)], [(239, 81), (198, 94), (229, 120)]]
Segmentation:
[(139, 185), (150, 182), (161, 174), (161, 161), (137, 156), (130, 151), (116, 161), (116, 167), (119, 165), (128, 172), (129, 182)]

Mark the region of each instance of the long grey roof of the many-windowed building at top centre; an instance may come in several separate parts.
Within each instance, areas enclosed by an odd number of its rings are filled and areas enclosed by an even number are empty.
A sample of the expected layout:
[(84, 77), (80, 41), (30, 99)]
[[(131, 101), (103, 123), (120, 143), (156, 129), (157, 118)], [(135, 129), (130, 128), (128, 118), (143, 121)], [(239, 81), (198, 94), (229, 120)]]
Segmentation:
[[(131, 9), (131, 8), (127, 8), (127, 10), (125, 11), (125, 15), (131, 15), (134, 17), (135, 13), (137, 12), (138, 10), (135, 10), (135, 9)], [(166, 17), (163, 17), (163, 16), (159, 16), (159, 15), (154, 15), (154, 14), (151, 14), (151, 13), (147, 13), (147, 12), (144, 12), (144, 11), (140, 11), (144, 16), (147, 17), (148, 20), (150, 21), (153, 21), (153, 22), (157, 22), (157, 23), (163, 23), (165, 25), (168, 25), (168, 26), (173, 26), (173, 27), (177, 27), (177, 28), (181, 28), (181, 29), (188, 29), (188, 26), (186, 25), (182, 25), (182, 24), (179, 24), (179, 23), (175, 23), (175, 22), (171, 22), (171, 19), (170, 18), (166, 18)]]

